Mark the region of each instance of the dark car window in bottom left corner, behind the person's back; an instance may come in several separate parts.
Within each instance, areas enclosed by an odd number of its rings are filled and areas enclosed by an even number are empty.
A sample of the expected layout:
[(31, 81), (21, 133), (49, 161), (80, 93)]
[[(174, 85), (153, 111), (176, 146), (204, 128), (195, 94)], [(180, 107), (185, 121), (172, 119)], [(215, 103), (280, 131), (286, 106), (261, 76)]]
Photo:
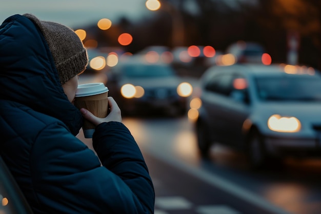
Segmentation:
[(32, 214), (3, 159), (0, 157), (0, 213)]

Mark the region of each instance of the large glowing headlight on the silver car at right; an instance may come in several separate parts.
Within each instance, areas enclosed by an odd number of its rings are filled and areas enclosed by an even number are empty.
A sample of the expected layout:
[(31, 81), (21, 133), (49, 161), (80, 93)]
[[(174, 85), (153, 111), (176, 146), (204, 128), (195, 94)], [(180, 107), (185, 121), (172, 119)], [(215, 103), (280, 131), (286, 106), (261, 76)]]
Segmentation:
[(297, 132), (301, 128), (301, 123), (294, 116), (286, 117), (274, 114), (268, 120), (268, 127), (272, 131)]

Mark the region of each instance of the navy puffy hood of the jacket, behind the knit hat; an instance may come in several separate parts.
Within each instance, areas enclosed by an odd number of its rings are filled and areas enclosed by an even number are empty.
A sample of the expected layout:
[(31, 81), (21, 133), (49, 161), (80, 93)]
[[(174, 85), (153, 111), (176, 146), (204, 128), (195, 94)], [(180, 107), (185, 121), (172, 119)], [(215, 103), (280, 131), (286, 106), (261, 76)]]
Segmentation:
[(64, 93), (43, 34), (18, 14), (0, 26), (0, 99), (53, 116), (74, 135), (82, 126), (82, 114)]

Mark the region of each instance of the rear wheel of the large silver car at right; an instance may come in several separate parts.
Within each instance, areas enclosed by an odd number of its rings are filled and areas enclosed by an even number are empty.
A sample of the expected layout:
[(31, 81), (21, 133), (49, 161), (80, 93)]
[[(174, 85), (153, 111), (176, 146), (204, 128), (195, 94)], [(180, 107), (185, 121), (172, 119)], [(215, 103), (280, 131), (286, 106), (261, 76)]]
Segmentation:
[(202, 121), (196, 123), (197, 145), (203, 158), (209, 157), (209, 150), (211, 147), (209, 127)]

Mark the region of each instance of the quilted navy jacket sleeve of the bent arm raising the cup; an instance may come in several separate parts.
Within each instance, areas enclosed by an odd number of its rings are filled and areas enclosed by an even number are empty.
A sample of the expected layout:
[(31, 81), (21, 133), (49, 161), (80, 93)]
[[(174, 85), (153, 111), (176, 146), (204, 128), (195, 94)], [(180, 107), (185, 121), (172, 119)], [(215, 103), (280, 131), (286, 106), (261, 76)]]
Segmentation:
[(31, 204), (34, 210), (154, 213), (155, 194), (148, 168), (122, 123), (103, 123), (96, 128), (93, 146), (101, 162), (91, 149), (63, 130), (56, 125), (46, 128), (34, 145), (31, 168), (38, 201)]

